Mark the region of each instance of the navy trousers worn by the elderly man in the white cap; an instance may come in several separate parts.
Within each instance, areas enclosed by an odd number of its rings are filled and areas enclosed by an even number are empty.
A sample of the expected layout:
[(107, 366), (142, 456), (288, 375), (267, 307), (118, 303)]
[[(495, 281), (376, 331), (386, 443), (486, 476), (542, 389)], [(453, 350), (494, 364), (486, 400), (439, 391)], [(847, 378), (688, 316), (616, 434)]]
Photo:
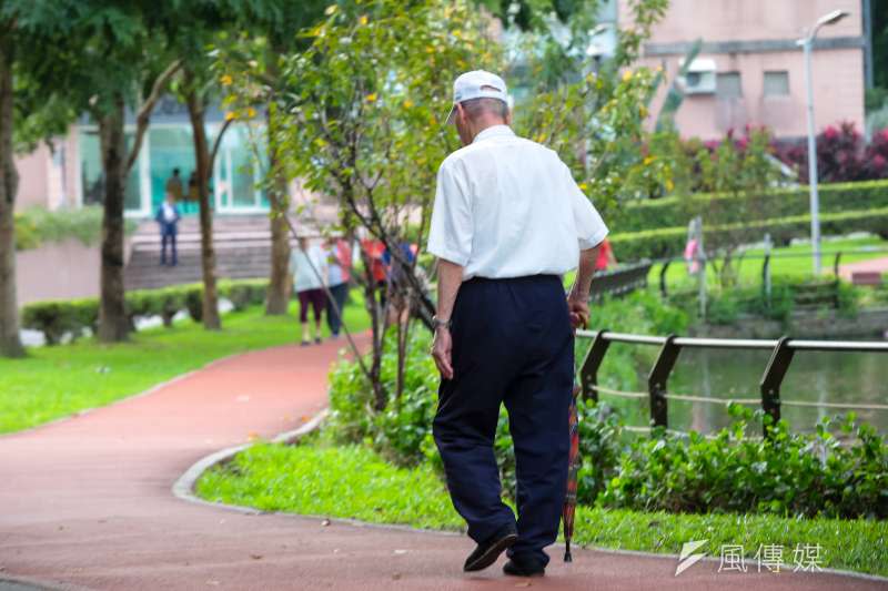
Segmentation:
[[(476, 542), (517, 526), (508, 556), (545, 565), (567, 485), (574, 336), (564, 288), (551, 275), (473, 278), (452, 320), (454, 376), (441, 383), (433, 432), (453, 505)], [(517, 523), (493, 451), (501, 404), (515, 446)]]

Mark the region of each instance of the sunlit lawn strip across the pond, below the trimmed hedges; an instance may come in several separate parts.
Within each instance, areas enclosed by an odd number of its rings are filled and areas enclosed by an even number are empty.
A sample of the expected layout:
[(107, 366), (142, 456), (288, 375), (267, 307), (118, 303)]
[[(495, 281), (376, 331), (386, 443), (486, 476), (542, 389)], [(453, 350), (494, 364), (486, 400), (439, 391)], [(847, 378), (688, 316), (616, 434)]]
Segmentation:
[[(839, 251), (850, 251), (855, 248), (876, 247), (885, 252), (881, 253), (859, 253), (859, 254), (842, 254), (841, 264), (854, 263), (856, 261), (868, 261), (870, 258), (888, 257), (888, 241), (882, 241), (878, 237), (870, 238), (842, 238), (825, 241), (821, 246), (823, 266), (826, 272), (831, 273), (835, 262), (835, 253)], [(773, 277), (794, 277), (804, 278), (813, 275), (810, 245), (801, 244), (797, 246), (787, 246), (783, 248), (774, 248), (771, 252), (775, 255), (796, 254), (806, 256), (781, 258), (775, 256), (770, 262), (770, 269)], [(761, 265), (764, 263), (761, 256), (764, 255), (763, 248), (750, 248), (745, 252), (745, 257), (740, 262), (740, 283), (743, 284), (760, 284), (761, 282)], [(756, 257), (756, 258), (754, 258)], [(650, 285), (659, 285), (659, 274), (662, 265), (654, 265), (650, 268), (648, 283)], [(666, 272), (666, 281), (669, 287), (688, 285), (690, 283), (696, 285), (697, 279), (687, 274), (687, 267), (682, 262), (674, 262), (669, 265)], [(718, 285), (717, 278), (712, 266), (708, 267), (707, 281), (709, 285)]]

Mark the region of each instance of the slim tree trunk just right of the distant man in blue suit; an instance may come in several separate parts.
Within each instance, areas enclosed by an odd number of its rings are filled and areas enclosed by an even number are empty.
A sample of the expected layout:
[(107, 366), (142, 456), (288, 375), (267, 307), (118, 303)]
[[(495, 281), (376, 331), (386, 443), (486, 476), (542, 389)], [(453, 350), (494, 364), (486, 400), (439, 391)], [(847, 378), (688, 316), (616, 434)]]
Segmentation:
[[(188, 78), (191, 75), (186, 74)], [(219, 294), (215, 285), (215, 251), (213, 248), (213, 215), (210, 211), (210, 146), (206, 141), (203, 101), (193, 89), (188, 93), (188, 113), (194, 135), (194, 162), (198, 176), (198, 198), (201, 220), (201, 266), (203, 268), (203, 326), (219, 330)]]

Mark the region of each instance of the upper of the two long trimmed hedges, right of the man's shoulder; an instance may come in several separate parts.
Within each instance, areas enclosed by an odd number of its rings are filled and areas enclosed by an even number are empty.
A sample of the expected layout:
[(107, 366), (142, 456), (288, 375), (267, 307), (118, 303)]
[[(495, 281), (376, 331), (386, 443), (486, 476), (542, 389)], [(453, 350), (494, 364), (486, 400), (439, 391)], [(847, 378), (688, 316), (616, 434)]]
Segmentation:
[[(888, 181), (824, 184), (819, 186), (820, 213), (876, 210), (888, 205)], [(713, 202), (717, 207), (712, 208)], [(755, 195), (699, 193), (629, 202), (608, 216), (619, 234), (653, 228), (685, 227), (703, 215), (707, 225), (727, 224), (758, 212), (761, 218), (795, 217), (809, 212), (808, 187), (799, 186)]]

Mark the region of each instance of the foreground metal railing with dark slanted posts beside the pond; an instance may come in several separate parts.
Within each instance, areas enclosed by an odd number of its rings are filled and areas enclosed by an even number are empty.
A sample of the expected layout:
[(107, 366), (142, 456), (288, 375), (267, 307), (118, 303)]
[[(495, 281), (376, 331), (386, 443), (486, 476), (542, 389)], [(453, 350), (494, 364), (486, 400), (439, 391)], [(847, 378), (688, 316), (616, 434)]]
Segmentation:
[[(579, 379), (583, 397), (598, 400), (598, 395), (616, 396), (623, 398), (648, 399), (650, 405), (650, 425), (668, 428), (668, 401), (680, 400), (686, 403), (719, 404), (730, 403), (760, 406), (774, 422), (780, 419), (781, 406), (797, 407), (825, 407), (836, 409), (857, 410), (888, 410), (888, 405), (864, 403), (813, 403), (807, 400), (781, 400), (780, 386), (793, 363), (796, 351), (846, 351), (846, 353), (885, 353), (888, 354), (888, 343), (879, 342), (850, 342), (850, 340), (798, 340), (789, 337), (779, 339), (727, 339), (727, 338), (695, 338), (669, 336), (630, 335), (612, 333), (609, 330), (577, 330), (579, 338), (591, 338), (592, 346), (586, 353), (579, 369)], [(650, 368), (647, 377), (647, 391), (625, 391), (605, 388), (598, 385), (598, 369), (612, 343), (626, 343), (632, 345), (658, 346), (659, 354)], [(759, 398), (712, 398), (706, 396), (692, 396), (669, 394), (667, 383), (669, 375), (678, 360), (683, 349), (744, 349), (770, 350), (765, 371), (759, 381)], [(886, 359), (888, 360), (888, 359)], [(649, 427), (637, 427), (634, 430), (648, 430)], [(770, 430), (763, 421), (763, 434), (769, 436)]]

